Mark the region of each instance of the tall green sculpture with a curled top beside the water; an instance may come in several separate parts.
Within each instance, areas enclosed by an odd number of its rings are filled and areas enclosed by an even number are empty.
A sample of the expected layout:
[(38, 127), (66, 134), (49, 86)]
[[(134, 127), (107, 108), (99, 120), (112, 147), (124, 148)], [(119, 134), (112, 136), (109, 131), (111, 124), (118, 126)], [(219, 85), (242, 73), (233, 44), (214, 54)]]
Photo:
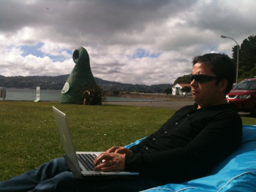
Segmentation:
[(96, 86), (96, 81), (90, 69), (90, 58), (84, 49), (79, 47), (73, 52), (73, 61), (76, 63), (61, 91), (60, 103), (84, 103), (84, 90)]

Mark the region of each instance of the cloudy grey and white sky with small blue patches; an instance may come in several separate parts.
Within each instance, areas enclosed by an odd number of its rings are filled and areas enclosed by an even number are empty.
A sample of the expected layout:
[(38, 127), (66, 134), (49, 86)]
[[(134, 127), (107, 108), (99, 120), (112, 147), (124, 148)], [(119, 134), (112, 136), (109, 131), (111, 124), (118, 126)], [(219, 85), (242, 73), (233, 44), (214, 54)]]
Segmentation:
[(0, 75), (59, 76), (84, 47), (94, 77), (172, 84), (256, 35), (256, 0), (0, 0)]

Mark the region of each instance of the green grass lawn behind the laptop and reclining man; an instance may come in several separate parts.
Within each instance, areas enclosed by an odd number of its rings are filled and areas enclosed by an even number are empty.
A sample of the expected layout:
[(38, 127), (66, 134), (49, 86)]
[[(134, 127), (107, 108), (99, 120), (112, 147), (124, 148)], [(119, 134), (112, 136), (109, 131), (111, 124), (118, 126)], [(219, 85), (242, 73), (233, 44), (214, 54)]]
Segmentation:
[[(64, 155), (52, 106), (67, 114), (76, 151), (105, 151), (145, 137), (175, 110), (134, 106), (0, 101), (0, 180)], [(242, 116), (244, 125), (256, 119)]]

